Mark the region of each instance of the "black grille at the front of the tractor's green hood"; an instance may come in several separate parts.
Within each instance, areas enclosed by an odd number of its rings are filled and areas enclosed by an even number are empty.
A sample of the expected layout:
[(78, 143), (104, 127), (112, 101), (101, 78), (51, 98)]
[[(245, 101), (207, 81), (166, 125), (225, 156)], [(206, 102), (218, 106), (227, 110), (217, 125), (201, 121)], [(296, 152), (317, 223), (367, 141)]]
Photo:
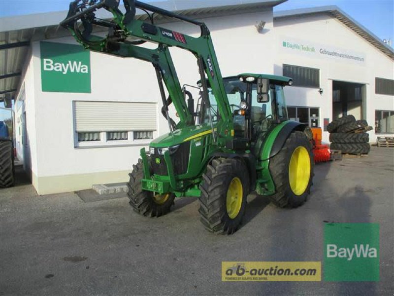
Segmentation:
[[(178, 149), (170, 154), (172, 167), (175, 175), (186, 174), (189, 165), (190, 141), (181, 144)], [(164, 161), (164, 155), (158, 153), (155, 148), (155, 154), (151, 155), (151, 166), (153, 173), (160, 176), (166, 176), (167, 166)]]

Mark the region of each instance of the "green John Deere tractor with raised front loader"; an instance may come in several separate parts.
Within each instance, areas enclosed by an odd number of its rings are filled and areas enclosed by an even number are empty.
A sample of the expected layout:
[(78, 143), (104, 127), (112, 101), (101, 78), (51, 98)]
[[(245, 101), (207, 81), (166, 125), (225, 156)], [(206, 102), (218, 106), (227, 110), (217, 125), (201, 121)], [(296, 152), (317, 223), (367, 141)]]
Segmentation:
[[(100, 8), (113, 18), (97, 18)], [(136, 8), (147, 16), (136, 19)], [(153, 14), (194, 24), (201, 35), (160, 27)], [(170, 211), (175, 197), (194, 196), (203, 225), (231, 234), (252, 191), (269, 196), (279, 207), (306, 201), (314, 162), (306, 126), (288, 120), (283, 87), (293, 83), (291, 78), (249, 73), (223, 78), (204, 23), (140, 1), (124, 0), (121, 7), (119, 0), (76, 0), (61, 25), (86, 49), (147, 61), (156, 71), (169, 132), (153, 140), (148, 150), (142, 148), (133, 165), (128, 194), (135, 212), (159, 217)], [(108, 28), (105, 37), (92, 34), (98, 26)], [(139, 46), (144, 42), (157, 47)], [(197, 59), (197, 102), (180, 85), (171, 46)], [(178, 122), (169, 115), (171, 104)]]

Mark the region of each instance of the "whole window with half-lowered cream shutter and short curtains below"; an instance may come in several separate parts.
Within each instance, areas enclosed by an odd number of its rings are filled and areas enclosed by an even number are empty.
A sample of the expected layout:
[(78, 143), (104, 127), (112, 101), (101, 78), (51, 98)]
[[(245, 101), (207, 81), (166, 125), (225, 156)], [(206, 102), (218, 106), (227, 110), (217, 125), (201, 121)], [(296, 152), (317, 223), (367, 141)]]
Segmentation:
[(156, 103), (74, 101), (76, 147), (128, 145), (153, 139)]

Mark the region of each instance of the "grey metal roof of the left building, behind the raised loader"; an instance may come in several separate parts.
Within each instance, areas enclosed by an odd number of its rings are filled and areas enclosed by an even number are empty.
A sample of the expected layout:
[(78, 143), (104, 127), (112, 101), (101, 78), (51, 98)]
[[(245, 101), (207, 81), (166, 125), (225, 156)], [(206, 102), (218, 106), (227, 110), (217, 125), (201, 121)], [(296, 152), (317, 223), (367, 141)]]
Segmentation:
[[(149, 4), (197, 18), (252, 12), (285, 1), (287, 0), (158, 0)], [(70, 36), (66, 29), (59, 26), (66, 15), (67, 11), (55, 11), (0, 19), (0, 101), (5, 93), (11, 94), (11, 97), (15, 96), (31, 41)], [(96, 16), (103, 19), (111, 18), (109, 12), (104, 9), (98, 10)], [(144, 20), (147, 15), (137, 10), (135, 18)], [(160, 20), (157, 14), (155, 18), (157, 22), (164, 21)]]

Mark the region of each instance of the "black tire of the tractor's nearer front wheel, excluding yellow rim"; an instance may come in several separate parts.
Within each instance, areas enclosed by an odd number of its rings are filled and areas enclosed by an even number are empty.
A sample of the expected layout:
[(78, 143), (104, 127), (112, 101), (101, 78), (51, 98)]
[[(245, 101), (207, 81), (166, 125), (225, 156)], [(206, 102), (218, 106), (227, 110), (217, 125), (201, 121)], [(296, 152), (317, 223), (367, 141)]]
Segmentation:
[[(230, 218), (227, 210), (227, 194), (230, 184), (238, 178), (242, 185), (242, 200), (236, 216)], [(234, 233), (245, 213), (246, 197), (249, 194), (249, 173), (239, 159), (217, 158), (208, 164), (202, 175), (201, 196), (198, 212), (204, 227), (218, 234)]]

